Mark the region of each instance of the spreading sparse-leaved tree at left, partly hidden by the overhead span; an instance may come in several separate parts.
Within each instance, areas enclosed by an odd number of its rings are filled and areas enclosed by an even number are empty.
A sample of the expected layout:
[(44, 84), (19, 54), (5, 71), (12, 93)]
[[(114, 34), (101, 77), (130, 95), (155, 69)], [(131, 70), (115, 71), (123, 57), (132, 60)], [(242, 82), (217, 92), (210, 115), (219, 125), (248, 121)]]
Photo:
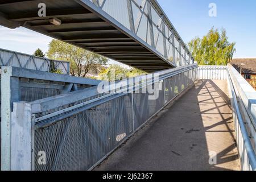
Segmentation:
[(70, 61), (70, 72), (72, 76), (85, 77), (89, 70), (97, 71), (101, 65), (106, 65), (108, 59), (81, 49), (71, 44), (52, 40), (49, 43), (47, 56), (55, 60)]

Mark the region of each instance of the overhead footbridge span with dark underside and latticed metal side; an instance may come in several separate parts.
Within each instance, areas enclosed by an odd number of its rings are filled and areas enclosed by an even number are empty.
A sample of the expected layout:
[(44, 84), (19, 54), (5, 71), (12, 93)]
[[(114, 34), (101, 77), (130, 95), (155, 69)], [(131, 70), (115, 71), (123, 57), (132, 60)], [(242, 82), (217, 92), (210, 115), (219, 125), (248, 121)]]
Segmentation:
[[(46, 5), (46, 16), (38, 5)], [(50, 23), (59, 20), (59, 26)], [(1, 1), (0, 24), (26, 27), (146, 72), (193, 63), (155, 0)]]

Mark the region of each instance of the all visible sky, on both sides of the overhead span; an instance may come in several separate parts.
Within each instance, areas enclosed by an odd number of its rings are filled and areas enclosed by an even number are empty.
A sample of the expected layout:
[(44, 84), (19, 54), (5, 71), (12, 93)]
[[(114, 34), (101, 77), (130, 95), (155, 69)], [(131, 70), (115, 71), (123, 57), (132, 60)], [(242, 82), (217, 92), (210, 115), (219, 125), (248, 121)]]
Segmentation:
[[(209, 29), (225, 28), (230, 42), (236, 42), (234, 57), (256, 57), (255, 0), (158, 0), (185, 43)], [(217, 17), (208, 15), (209, 3), (216, 3)], [(51, 38), (25, 28), (0, 26), (0, 48), (32, 54), (47, 51)]]

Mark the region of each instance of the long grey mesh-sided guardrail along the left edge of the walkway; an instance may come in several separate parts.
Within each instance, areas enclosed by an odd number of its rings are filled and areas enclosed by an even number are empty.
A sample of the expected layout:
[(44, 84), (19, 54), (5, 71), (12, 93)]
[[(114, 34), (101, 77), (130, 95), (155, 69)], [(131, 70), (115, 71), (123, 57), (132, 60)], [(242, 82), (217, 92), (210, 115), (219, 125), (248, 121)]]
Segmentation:
[(196, 69), (196, 64), (187, 65), (34, 102), (15, 102), (11, 169), (92, 169), (191, 85)]

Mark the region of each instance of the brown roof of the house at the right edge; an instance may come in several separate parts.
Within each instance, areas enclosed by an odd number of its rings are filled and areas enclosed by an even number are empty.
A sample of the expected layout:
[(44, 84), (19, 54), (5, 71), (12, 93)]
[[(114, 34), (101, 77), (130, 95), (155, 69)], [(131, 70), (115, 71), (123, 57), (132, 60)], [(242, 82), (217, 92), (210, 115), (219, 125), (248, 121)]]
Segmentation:
[(242, 66), (242, 73), (256, 75), (256, 58), (233, 59), (231, 64), (238, 72), (240, 72), (241, 64), (245, 64)]

